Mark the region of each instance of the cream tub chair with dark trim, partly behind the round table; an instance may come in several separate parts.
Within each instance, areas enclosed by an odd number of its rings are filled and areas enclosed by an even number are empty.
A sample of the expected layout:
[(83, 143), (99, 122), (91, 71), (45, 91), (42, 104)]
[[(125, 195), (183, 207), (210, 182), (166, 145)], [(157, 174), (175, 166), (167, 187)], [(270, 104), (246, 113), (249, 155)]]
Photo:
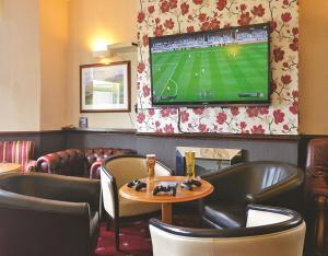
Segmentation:
[[(171, 176), (172, 171), (156, 161), (155, 176)], [(145, 156), (117, 155), (107, 159), (101, 168), (101, 183), (104, 209), (113, 219), (115, 229), (115, 245), (119, 249), (119, 218), (136, 217), (159, 211), (161, 205), (128, 200), (119, 196), (119, 188), (133, 181), (147, 177)]]

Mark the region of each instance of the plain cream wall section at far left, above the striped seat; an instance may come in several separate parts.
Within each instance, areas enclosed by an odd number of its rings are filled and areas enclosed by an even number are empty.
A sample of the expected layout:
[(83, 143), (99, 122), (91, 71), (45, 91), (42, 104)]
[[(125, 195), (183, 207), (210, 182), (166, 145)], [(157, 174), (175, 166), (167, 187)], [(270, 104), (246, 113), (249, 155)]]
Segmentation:
[(38, 0), (2, 0), (0, 130), (39, 129)]

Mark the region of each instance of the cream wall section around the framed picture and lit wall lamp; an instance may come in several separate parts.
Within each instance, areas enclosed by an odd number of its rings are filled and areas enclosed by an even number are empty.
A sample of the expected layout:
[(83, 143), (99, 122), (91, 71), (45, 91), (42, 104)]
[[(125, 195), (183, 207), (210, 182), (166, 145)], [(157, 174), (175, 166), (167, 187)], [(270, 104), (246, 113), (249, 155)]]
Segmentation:
[[(69, 13), (69, 60), (67, 84), (68, 124), (78, 126), (79, 117), (89, 118), (89, 127), (95, 128), (134, 128), (134, 112), (122, 114), (80, 114), (79, 66), (98, 62), (92, 58), (92, 45), (96, 39), (108, 43), (137, 40), (138, 0), (71, 0)], [(131, 60), (132, 106), (136, 103), (137, 51), (122, 55), (116, 60)]]

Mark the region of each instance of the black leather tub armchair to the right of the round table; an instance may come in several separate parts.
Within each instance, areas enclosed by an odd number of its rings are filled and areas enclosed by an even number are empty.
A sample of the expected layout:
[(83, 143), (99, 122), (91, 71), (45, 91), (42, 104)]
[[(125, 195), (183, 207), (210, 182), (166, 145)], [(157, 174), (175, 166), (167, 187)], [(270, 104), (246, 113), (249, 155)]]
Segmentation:
[(236, 164), (202, 178), (214, 186), (213, 194), (200, 201), (202, 220), (227, 229), (245, 225), (247, 203), (298, 209), (304, 173), (288, 163), (260, 161)]

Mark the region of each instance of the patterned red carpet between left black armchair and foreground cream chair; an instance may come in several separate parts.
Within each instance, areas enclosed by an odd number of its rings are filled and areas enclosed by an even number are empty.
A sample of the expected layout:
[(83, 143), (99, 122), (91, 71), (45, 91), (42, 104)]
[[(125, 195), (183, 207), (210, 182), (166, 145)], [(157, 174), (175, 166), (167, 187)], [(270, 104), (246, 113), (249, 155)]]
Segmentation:
[(152, 245), (149, 233), (148, 221), (136, 221), (121, 223), (120, 251), (115, 251), (114, 231), (106, 231), (105, 223), (102, 223), (98, 244), (95, 249), (96, 256), (149, 256), (152, 255)]

